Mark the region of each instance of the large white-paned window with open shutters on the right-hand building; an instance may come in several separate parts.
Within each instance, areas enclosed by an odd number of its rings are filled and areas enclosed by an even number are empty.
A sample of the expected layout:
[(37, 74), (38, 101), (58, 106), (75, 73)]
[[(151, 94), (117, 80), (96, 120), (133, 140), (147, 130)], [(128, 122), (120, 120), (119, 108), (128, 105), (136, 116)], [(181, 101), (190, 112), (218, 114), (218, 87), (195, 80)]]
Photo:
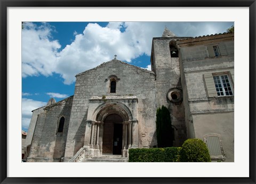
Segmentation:
[[(233, 81), (231, 81), (231, 78)], [(234, 70), (222, 73), (204, 74), (204, 82), (208, 97), (234, 95)]]

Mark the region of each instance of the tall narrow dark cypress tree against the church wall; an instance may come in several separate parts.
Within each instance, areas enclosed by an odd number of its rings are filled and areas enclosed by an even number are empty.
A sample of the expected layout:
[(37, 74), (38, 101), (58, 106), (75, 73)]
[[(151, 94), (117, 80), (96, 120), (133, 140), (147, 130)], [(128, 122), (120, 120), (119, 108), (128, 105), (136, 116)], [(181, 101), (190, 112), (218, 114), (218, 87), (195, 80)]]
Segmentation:
[(172, 147), (174, 129), (172, 128), (169, 110), (162, 106), (156, 112), (156, 136), (158, 148)]

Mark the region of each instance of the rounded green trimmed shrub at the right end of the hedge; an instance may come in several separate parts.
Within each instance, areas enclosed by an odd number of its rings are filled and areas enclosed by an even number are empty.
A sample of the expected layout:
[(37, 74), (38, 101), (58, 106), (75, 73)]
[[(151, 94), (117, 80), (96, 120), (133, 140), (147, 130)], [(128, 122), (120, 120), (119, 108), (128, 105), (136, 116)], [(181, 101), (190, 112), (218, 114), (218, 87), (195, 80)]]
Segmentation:
[(211, 157), (201, 139), (187, 139), (180, 150), (180, 162), (211, 162)]

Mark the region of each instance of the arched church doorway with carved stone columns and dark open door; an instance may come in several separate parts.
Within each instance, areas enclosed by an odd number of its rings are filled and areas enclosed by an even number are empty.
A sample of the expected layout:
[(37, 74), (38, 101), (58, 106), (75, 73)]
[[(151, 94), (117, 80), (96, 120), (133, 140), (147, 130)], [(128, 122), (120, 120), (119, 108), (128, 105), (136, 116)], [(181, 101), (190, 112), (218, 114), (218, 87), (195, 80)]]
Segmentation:
[(90, 150), (90, 156), (127, 157), (129, 148), (138, 147), (138, 121), (124, 103), (110, 100), (101, 103), (87, 118), (92, 120), (86, 121), (84, 147)]

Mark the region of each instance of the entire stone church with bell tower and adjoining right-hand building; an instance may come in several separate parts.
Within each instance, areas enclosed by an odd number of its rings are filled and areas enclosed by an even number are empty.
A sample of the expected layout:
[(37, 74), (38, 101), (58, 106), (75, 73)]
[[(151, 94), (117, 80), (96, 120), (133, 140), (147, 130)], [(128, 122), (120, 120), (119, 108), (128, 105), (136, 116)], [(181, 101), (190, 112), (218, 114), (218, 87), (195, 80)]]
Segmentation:
[(156, 110), (169, 109), (173, 146), (205, 141), (213, 160), (234, 162), (234, 34), (153, 38), (151, 70), (116, 57), (76, 75), (74, 95), (33, 110), (27, 162), (127, 157), (157, 147)]

